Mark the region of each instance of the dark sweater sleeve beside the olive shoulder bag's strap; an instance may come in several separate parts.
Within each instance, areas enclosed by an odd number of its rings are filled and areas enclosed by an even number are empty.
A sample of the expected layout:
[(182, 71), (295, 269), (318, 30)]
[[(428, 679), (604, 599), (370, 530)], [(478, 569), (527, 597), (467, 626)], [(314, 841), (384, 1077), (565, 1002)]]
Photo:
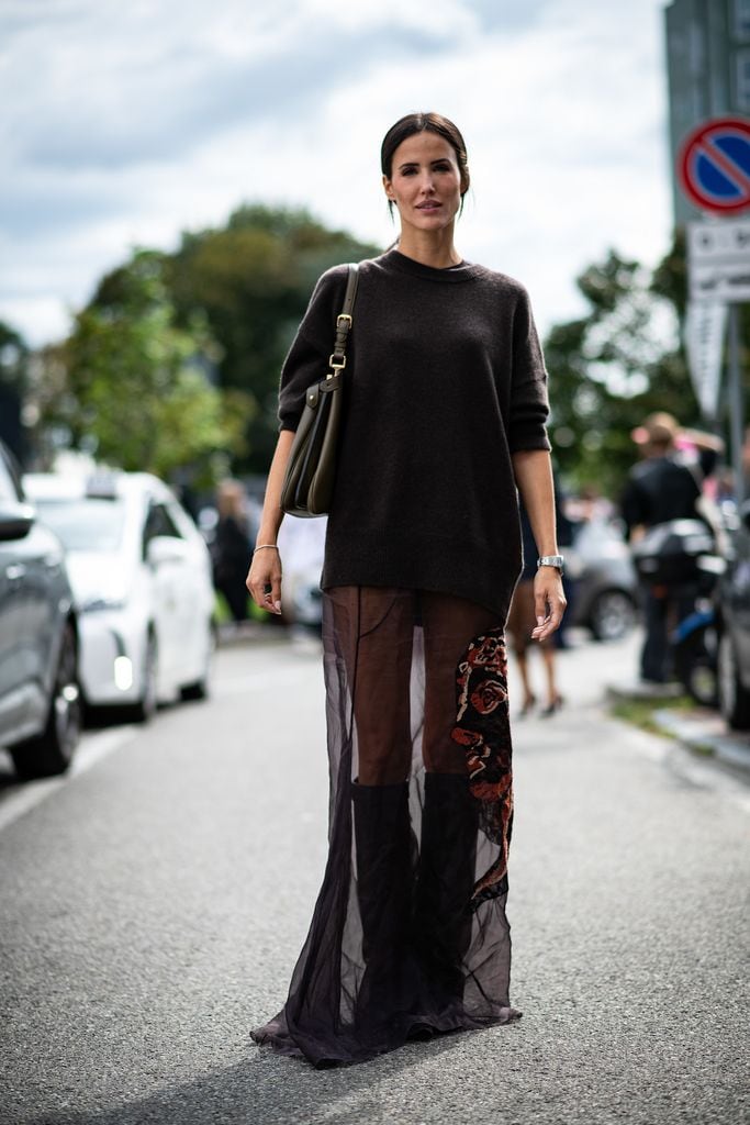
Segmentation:
[(307, 388), (325, 377), (333, 351), (336, 316), (346, 288), (346, 266), (335, 266), (319, 279), (281, 368), (279, 429), (296, 430)]

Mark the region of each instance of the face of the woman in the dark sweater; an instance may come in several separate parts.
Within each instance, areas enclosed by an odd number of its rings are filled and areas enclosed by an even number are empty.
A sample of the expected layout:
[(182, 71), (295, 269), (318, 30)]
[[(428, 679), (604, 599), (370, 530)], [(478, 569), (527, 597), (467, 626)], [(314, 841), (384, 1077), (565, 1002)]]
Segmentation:
[(425, 129), (401, 141), (390, 174), (383, 176), (383, 188), (403, 226), (437, 231), (453, 222), (463, 183), (453, 146), (437, 133)]

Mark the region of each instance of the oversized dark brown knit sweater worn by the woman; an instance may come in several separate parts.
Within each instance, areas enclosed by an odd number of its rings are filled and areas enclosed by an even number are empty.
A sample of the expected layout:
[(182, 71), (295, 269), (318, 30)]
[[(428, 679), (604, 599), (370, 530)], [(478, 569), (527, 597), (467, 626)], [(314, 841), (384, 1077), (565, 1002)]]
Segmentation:
[[(281, 372), (296, 430), (324, 377), (346, 267), (319, 279)], [(510, 454), (549, 449), (546, 372), (526, 290), (481, 266), (391, 250), (360, 266), (323, 588), (454, 594), (505, 621), (522, 565)]]

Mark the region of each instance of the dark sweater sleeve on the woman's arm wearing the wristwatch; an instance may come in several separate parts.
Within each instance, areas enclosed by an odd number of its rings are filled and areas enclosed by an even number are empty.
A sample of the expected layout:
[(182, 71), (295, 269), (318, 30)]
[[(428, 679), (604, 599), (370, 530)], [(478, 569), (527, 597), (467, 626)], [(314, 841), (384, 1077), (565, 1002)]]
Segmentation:
[(513, 375), (510, 381), (512, 453), (523, 449), (550, 449), (546, 418), (546, 369), (542, 345), (526, 290), (522, 290), (513, 317)]

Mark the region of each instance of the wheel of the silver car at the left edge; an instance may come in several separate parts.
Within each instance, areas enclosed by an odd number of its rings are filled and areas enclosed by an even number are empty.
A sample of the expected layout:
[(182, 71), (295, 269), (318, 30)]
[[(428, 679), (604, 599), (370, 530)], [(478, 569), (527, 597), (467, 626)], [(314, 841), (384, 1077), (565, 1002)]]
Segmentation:
[(44, 731), (10, 752), (19, 777), (48, 777), (65, 773), (81, 735), (81, 713), (78, 644), (75, 630), (69, 621), (63, 631)]

